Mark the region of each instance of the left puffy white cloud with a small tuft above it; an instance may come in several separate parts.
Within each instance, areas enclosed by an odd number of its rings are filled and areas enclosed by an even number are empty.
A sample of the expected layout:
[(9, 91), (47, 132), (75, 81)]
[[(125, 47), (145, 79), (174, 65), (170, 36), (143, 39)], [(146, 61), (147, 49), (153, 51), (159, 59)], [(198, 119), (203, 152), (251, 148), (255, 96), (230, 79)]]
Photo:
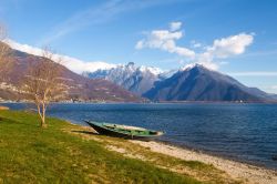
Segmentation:
[(183, 37), (183, 32), (177, 31), (181, 25), (181, 22), (172, 22), (170, 30), (151, 31), (146, 39), (140, 40), (136, 43), (135, 48), (161, 49), (170, 53), (176, 53), (181, 57), (193, 59), (195, 57), (194, 51), (176, 45), (176, 41)]

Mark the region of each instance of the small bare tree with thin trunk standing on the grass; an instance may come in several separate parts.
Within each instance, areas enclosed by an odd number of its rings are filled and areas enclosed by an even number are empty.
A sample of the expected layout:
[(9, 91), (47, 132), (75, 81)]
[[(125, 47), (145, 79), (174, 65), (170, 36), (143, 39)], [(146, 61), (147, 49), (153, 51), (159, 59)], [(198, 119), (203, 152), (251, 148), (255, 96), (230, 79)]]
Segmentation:
[(24, 78), (23, 91), (27, 99), (37, 106), (41, 120), (41, 127), (47, 127), (45, 115), (48, 105), (51, 102), (62, 99), (64, 85), (61, 78), (61, 59), (53, 61), (55, 54), (49, 49), (44, 49), (42, 57), (30, 57), (30, 65)]

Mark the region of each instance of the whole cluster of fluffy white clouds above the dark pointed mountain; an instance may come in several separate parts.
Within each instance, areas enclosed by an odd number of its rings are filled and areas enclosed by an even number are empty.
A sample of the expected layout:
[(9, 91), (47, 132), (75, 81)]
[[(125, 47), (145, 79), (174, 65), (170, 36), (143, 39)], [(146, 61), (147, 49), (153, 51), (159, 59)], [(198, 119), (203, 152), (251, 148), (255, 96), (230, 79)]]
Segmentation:
[(244, 53), (246, 48), (254, 41), (254, 33), (244, 32), (216, 39), (208, 47), (203, 47), (202, 43), (192, 40), (191, 48), (202, 50), (202, 52), (196, 53), (194, 50), (176, 44), (176, 41), (183, 38), (181, 27), (182, 22), (172, 22), (168, 30), (153, 30), (147, 33), (145, 39), (140, 40), (135, 48), (160, 49), (170, 53), (176, 53), (182, 58), (191, 59), (191, 61), (194, 59), (194, 63), (217, 70), (223, 63), (226, 64), (226, 62), (217, 60)]

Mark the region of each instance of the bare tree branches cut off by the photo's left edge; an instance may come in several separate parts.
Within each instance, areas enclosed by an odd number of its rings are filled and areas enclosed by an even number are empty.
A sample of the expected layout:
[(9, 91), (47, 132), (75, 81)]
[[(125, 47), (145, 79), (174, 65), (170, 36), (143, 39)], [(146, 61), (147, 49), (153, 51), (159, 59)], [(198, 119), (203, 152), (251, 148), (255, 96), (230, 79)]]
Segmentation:
[(4, 43), (7, 38), (4, 25), (0, 24), (0, 78), (3, 78), (11, 68), (11, 49)]

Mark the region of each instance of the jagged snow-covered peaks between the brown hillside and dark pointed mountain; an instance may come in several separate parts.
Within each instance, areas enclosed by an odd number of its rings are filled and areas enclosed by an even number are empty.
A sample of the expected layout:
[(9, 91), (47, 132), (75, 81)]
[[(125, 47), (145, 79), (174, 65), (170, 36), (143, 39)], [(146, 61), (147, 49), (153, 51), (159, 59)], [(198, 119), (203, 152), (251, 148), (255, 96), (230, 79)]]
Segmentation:
[(130, 62), (126, 65), (119, 64), (110, 70), (98, 70), (95, 72), (84, 72), (83, 75), (91, 79), (105, 79), (117, 85), (125, 88), (136, 94), (143, 94), (154, 86), (154, 82), (160, 81), (163, 71), (153, 67), (136, 67)]

